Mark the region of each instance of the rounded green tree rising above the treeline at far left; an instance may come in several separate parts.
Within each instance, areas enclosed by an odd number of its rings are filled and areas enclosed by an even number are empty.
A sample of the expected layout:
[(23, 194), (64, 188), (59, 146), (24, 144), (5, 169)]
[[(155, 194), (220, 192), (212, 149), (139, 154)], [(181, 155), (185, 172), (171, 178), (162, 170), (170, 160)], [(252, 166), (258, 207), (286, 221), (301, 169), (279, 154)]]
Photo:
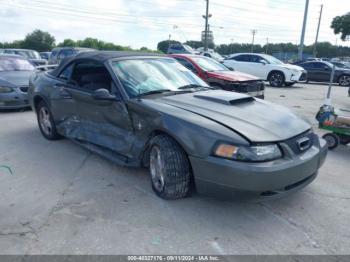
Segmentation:
[(35, 30), (27, 34), (22, 42), (22, 48), (33, 49), (39, 52), (50, 51), (55, 46), (55, 38), (48, 32)]

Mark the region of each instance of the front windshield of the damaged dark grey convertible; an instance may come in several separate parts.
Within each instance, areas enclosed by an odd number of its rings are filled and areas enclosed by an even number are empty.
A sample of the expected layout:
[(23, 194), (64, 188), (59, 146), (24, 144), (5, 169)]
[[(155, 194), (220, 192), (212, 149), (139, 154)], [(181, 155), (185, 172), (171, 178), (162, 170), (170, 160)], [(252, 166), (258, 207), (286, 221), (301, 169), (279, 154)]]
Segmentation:
[(183, 91), (182, 88), (186, 86), (209, 87), (174, 59), (129, 59), (111, 64), (130, 97), (153, 91)]

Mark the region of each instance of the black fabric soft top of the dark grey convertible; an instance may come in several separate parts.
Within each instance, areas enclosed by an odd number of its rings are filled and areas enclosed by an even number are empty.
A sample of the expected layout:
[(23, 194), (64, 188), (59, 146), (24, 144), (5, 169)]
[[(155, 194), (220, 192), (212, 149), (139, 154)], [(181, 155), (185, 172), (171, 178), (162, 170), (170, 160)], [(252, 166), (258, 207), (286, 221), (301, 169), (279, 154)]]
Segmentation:
[(162, 57), (164, 55), (161, 54), (155, 54), (155, 53), (141, 53), (141, 52), (125, 52), (125, 51), (88, 51), (88, 52), (82, 52), (75, 56), (66, 58), (62, 60), (60, 65), (52, 70), (50, 72), (51, 75), (57, 76), (66, 65), (70, 64), (71, 62), (75, 60), (80, 59), (89, 59), (89, 60), (95, 60), (97, 62), (104, 63), (109, 59), (113, 58), (121, 58), (121, 57), (135, 57), (135, 56), (156, 56), (156, 57)]

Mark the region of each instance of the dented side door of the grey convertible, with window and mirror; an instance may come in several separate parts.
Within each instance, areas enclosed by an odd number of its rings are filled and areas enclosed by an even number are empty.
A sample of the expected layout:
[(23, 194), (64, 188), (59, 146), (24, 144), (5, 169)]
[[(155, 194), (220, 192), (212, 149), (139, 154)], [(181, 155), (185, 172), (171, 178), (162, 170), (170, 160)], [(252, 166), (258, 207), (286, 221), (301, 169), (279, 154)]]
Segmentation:
[(79, 61), (71, 82), (80, 126), (73, 138), (127, 155), (134, 140), (132, 124), (107, 68), (96, 61)]

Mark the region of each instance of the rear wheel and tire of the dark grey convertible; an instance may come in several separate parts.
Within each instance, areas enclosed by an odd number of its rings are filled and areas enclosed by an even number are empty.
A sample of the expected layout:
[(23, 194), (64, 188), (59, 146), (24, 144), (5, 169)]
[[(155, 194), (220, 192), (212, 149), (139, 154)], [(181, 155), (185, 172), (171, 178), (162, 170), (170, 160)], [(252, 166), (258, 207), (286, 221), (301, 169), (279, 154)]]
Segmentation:
[[(44, 117), (43, 114), (45, 114), (45, 118), (46, 118), (45, 120), (43, 119)], [(41, 101), (37, 106), (36, 115), (37, 115), (38, 125), (40, 128), (41, 134), (46, 139), (58, 140), (62, 138), (62, 136), (57, 132), (56, 125), (55, 125), (55, 122), (53, 121), (50, 108), (47, 106), (47, 104), (44, 101)]]

